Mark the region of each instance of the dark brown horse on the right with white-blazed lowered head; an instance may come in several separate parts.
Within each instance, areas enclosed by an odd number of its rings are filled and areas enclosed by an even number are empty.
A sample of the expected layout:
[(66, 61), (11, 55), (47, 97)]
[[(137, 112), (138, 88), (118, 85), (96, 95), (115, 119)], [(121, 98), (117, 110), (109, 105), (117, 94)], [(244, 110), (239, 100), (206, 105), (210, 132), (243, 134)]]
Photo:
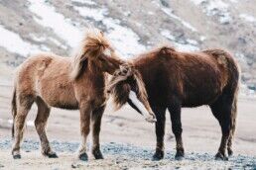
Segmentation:
[[(226, 147), (228, 155), (233, 153), (231, 147), (236, 125), (239, 69), (228, 52), (221, 49), (182, 52), (163, 46), (140, 54), (130, 65), (138, 70), (137, 75), (145, 83), (150, 106), (157, 118), (157, 145), (153, 160), (164, 157), (166, 110), (171, 114), (172, 130), (176, 137), (176, 158), (182, 159), (185, 153), (181, 109), (202, 105), (210, 107), (222, 131), (215, 158), (227, 159)], [(128, 97), (119, 98), (128, 96), (129, 90), (134, 89), (132, 72), (126, 77), (116, 74), (110, 80), (108, 92), (118, 98), (115, 102), (132, 103)], [(141, 112), (137, 105), (131, 106)]]

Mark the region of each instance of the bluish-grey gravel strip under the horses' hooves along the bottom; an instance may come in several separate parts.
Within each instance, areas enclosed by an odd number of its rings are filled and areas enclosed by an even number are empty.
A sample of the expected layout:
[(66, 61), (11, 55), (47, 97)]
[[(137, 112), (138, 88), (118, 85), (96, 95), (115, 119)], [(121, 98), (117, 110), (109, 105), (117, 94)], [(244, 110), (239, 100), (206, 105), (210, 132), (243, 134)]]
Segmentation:
[[(1, 152), (10, 152), (11, 142), (11, 139), (1, 139)], [(164, 160), (151, 161), (154, 153), (152, 148), (115, 142), (102, 144), (104, 160), (93, 160), (90, 155), (87, 162), (82, 162), (77, 160), (75, 155), (78, 142), (54, 140), (51, 145), (59, 153), (60, 158), (43, 157), (40, 155), (40, 142), (34, 139), (25, 139), (22, 144), (23, 158), (13, 160), (11, 154), (1, 154), (0, 168), (16, 169), (19, 167), (21, 169), (24, 167), (34, 169), (34, 163), (40, 166), (37, 161), (42, 161), (43, 169), (256, 169), (256, 157), (240, 154), (230, 157), (228, 161), (216, 161), (213, 158), (214, 153), (191, 152), (186, 153), (184, 160), (177, 161), (174, 159), (174, 150), (167, 150)]]

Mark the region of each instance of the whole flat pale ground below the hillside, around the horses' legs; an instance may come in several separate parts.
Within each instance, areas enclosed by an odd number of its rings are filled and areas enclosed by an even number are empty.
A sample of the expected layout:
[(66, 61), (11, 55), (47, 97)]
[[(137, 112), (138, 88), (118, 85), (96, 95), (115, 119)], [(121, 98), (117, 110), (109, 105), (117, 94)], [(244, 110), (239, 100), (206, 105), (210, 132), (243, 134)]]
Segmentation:
[[(256, 167), (256, 101), (239, 99), (238, 125), (234, 140), (234, 156), (228, 161), (215, 161), (220, 142), (220, 127), (207, 107), (184, 109), (182, 114), (186, 157), (176, 161), (175, 137), (167, 113), (165, 135), (166, 156), (151, 161), (155, 148), (154, 125), (146, 123), (129, 106), (113, 112), (111, 103), (102, 119), (100, 140), (104, 160), (78, 161), (75, 150), (79, 144), (79, 114), (77, 111), (53, 109), (48, 122), (48, 136), (58, 159), (41, 155), (39, 137), (34, 127), (37, 108), (28, 116), (22, 159), (11, 156), (10, 97), (11, 82), (0, 83), (0, 169), (255, 169)], [(90, 141), (90, 140), (89, 140)], [(89, 145), (88, 145), (89, 148)]]

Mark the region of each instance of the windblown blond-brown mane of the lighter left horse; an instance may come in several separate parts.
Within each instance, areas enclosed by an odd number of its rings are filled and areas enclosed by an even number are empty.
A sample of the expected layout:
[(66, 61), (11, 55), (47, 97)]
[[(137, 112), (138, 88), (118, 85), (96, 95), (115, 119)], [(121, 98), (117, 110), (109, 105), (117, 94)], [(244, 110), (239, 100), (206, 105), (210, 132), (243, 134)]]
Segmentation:
[(78, 50), (74, 53), (71, 78), (73, 80), (79, 78), (84, 66), (86, 66), (87, 59), (98, 57), (107, 48), (110, 52), (113, 51), (110, 42), (104, 37), (103, 33), (97, 29), (88, 29)]

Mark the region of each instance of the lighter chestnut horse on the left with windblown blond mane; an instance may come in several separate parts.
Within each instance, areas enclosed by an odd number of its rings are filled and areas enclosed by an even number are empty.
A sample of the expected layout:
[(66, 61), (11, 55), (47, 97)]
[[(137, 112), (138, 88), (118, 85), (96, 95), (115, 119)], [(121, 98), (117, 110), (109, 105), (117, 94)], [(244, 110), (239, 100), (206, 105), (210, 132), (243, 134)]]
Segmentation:
[[(51, 107), (55, 107), (80, 111), (79, 159), (87, 160), (86, 139), (90, 123), (93, 139), (92, 154), (96, 159), (103, 158), (100, 151), (99, 132), (106, 103), (106, 72), (113, 73), (123, 63), (114, 56), (110, 43), (101, 32), (94, 29), (87, 32), (74, 57), (42, 53), (29, 57), (20, 65), (16, 74), (12, 100), (14, 158), (21, 158), (20, 142), (23, 138), (24, 123), (34, 102), (38, 106), (35, 126), (44, 155), (58, 157), (52, 150), (46, 134)], [(139, 82), (141, 80), (136, 80), (138, 90), (144, 90), (144, 84)], [(149, 107), (145, 90), (140, 94), (145, 96), (140, 96), (138, 99), (136, 95), (131, 96), (130, 100), (139, 101), (141, 108), (145, 110), (146, 120), (154, 122), (154, 115)]]

